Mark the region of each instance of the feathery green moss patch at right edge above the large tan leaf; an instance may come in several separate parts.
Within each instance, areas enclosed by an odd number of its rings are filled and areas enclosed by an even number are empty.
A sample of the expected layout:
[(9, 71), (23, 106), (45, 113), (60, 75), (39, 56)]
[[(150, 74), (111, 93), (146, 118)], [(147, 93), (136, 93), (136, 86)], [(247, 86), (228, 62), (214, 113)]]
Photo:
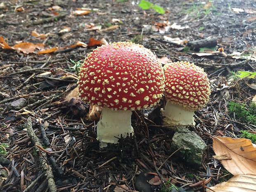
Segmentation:
[(243, 123), (251, 123), (256, 125), (256, 104), (251, 102), (247, 105), (245, 103), (229, 102), (228, 110), (230, 114), (234, 114)]

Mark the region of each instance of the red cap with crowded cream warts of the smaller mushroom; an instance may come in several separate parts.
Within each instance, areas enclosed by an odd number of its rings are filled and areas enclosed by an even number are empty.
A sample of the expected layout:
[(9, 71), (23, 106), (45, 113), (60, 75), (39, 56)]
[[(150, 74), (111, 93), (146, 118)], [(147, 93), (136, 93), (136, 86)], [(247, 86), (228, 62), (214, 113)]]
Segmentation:
[(164, 66), (164, 73), (166, 98), (172, 104), (196, 111), (209, 101), (210, 83), (201, 67), (190, 62), (174, 62)]

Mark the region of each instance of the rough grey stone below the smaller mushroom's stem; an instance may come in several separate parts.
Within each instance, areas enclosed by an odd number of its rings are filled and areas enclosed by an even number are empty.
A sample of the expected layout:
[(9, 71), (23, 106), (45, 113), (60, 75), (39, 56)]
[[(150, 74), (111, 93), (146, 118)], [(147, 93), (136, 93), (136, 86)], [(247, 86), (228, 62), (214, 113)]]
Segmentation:
[(171, 151), (175, 152), (178, 159), (182, 159), (191, 166), (201, 166), (206, 144), (196, 133), (184, 126), (179, 126), (173, 135)]

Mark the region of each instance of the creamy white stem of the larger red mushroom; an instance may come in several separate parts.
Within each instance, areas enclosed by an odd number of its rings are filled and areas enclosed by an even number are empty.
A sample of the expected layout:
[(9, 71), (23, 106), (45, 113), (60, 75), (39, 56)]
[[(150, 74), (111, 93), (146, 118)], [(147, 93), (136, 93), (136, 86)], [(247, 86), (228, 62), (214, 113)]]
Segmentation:
[(118, 143), (119, 138), (133, 133), (131, 125), (131, 110), (111, 110), (103, 107), (100, 121), (97, 123), (97, 140), (100, 147), (107, 147), (107, 143)]

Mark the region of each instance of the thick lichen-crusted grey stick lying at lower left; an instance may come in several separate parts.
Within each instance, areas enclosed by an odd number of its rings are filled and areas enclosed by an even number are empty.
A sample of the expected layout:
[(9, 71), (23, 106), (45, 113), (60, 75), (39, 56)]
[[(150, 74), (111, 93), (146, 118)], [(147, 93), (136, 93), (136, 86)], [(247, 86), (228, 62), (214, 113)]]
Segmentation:
[[(31, 138), (33, 141), (34, 145), (39, 145), (42, 147), (42, 144), (36, 134), (34, 133), (33, 127), (32, 127), (32, 120), (31, 117), (28, 117), (28, 121), (24, 124), (24, 128), (28, 130), (28, 136)], [(57, 187), (54, 181), (54, 176), (52, 173), (52, 167), (48, 164), (47, 162), (47, 156), (45, 152), (42, 152), (38, 147), (36, 147), (37, 151), (40, 151), (39, 157), (39, 164), (41, 168), (43, 168), (43, 171), (45, 173), (47, 182), (48, 182), (48, 187), (50, 192), (56, 192)]]

